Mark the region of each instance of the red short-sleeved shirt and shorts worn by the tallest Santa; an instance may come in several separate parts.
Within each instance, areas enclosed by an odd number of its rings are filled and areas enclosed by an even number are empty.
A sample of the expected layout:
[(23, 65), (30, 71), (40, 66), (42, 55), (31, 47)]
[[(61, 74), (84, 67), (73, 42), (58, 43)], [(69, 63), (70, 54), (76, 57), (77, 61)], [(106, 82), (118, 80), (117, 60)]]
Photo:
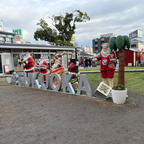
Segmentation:
[(114, 63), (110, 61), (110, 59), (115, 58), (114, 52), (110, 52), (108, 55), (104, 56), (102, 52), (100, 52), (96, 58), (100, 60), (100, 71), (102, 78), (113, 78), (115, 66)]

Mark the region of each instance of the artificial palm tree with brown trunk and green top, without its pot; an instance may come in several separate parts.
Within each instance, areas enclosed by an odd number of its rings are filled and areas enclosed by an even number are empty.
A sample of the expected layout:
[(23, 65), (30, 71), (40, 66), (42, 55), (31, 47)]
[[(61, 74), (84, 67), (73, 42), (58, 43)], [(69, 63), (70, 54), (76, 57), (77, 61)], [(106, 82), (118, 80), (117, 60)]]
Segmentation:
[(128, 36), (112, 37), (109, 41), (110, 49), (119, 51), (119, 72), (118, 72), (118, 86), (125, 87), (124, 79), (124, 66), (125, 66), (125, 53), (124, 49), (130, 48), (130, 40)]

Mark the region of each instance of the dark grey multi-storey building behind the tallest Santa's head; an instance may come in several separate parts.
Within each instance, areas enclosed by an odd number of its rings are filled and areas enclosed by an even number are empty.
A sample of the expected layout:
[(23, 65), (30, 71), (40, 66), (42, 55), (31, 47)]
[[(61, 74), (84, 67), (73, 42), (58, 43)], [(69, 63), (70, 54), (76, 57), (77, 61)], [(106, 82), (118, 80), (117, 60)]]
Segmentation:
[(93, 48), (93, 53), (99, 53), (102, 49), (102, 44), (109, 42), (110, 37), (115, 37), (116, 34), (114, 33), (107, 33), (100, 35), (100, 38), (96, 38), (92, 40), (92, 48)]

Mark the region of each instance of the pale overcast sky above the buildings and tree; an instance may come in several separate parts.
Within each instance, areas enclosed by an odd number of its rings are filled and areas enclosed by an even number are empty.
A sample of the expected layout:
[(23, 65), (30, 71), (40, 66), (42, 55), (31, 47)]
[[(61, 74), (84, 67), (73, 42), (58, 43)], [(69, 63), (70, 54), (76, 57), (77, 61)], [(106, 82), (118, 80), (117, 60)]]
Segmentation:
[(128, 34), (144, 27), (144, 0), (0, 0), (0, 20), (5, 31), (20, 28), (25, 40), (36, 43), (33, 34), (41, 18), (75, 9), (91, 18), (77, 25), (75, 42), (79, 46), (92, 46), (92, 39), (100, 34)]

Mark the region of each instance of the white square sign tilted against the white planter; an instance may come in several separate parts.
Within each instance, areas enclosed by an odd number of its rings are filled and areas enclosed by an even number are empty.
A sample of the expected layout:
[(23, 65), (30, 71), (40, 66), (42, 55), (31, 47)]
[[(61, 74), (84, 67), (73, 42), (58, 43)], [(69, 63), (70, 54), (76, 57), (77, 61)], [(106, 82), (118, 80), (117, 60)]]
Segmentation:
[(101, 82), (97, 88), (97, 91), (107, 96), (111, 91), (111, 87), (105, 84), (104, 82)]

